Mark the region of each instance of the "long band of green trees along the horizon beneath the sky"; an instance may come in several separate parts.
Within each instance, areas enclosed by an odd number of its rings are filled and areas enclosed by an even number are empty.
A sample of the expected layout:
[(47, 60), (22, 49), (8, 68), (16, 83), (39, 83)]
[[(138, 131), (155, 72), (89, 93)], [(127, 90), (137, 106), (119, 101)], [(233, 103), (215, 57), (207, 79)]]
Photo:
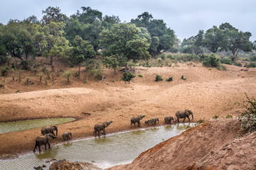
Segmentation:
[(71, 66), (81, 67), (85, 62), (95, 63), (98, 54), (106, 67), (116, 69), (131, 60), (149, 60), (164, 51), (196, 55), (230, 51), (235, 61), (238, 52), (255, 49), (250, 42), (252, 34), (230, 23), (199, 30), (198, 35), (181, 42), (163, 20), (153, 18), (148, 12), (129, 23), (121, 23), (118, 16), (102, 16), (102, 12), (84, 6), (70, 17), (58, 7), (49, 6), (42, 12), (41, 21), (30, 16), (23, 21), (11, 19), (6, 25), (0, 24), (0, 64), (16, 57), (23, 69), (27, 69), (28, 60), (42, 56), (50, 59), (54, 71), (54, 57), (68, 58)]

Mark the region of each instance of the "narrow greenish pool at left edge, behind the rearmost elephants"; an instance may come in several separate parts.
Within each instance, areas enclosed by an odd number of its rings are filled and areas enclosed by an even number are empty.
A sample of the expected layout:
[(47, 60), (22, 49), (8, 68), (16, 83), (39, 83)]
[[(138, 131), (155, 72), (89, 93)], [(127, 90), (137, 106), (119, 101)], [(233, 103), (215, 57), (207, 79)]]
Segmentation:
[(0, 134), (21, 130), (42, 128), (48, 125), (58, 125), (74, 121), (74, 118), (48, 118), (36, 120), (22, 120), (16, 122), (0, 123)]

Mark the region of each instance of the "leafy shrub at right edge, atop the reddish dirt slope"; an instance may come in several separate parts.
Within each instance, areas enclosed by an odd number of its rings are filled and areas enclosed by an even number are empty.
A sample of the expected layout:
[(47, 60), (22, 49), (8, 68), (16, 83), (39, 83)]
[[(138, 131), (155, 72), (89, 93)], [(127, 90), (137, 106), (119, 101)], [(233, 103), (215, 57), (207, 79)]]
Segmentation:
[(242, 122), (242, 129), (250, 133), (256, 130), (256, 100), (252, 96), (250, 98), (246, 95), (247, 100), (242, 103), (238, 103), (239, 106), (243, 106), (245, 111), (238, 117), (238, 120)]

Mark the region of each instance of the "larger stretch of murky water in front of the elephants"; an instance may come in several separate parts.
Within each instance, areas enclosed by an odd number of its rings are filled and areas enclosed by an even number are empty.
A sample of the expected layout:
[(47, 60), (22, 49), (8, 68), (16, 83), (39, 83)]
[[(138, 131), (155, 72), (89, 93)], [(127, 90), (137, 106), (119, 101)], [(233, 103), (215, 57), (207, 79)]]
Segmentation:
[[(117, 164), (128, 164), (147, 149), (179, 135), (194, 125), (195, 123), (181, 123), (65, 142), (40, 153), (37, 151), (14, 160), (0, 160), (0, 169), (33, 169), (33, 166), (43, 164), (50, 166), (50, 163), (46, 163), (50, 159), (93, 162), (102, 169)], [(44, 149), (43, 146), (42, 148)]]

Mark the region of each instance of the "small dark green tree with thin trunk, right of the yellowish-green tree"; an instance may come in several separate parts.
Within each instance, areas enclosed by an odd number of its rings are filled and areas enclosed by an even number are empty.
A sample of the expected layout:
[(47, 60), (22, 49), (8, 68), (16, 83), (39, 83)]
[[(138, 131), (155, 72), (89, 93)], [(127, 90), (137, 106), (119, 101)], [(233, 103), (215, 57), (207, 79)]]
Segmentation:
[(96, 52), (90, 42), (82, 40), (79, 35), (76, 35), (73, 40), (73, 49), (70, 53), (70, 58), (73, 62), (79, 64), (78, 75), (80, 76), (80, 67), (82, 62), (87, 59), (92, 59), (95, 57)]

